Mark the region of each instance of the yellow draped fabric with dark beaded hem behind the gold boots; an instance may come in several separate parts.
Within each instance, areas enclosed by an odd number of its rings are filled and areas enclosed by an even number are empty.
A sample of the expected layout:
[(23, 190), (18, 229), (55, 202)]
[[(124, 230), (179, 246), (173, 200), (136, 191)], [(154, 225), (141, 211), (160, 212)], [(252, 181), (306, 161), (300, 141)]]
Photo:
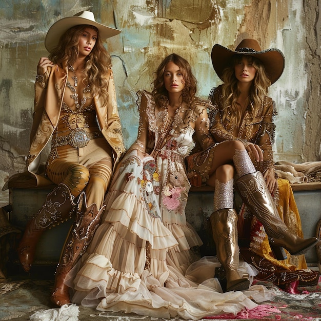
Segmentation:
[[(278, 191), (273, 197), (280, 218), (293, 233), (303, 237), (300, 216), (288, 180), (278, 179)], [(257, 269), (256, 279), (267, 280), (285, 288), (296, 281), (300, 286), (317, 283), (319, 273), (307, 268), (304, 255), (292, 256), (285, 250), (286, 259), (274, 258), (262, 223), (251, 215), (244, 204), (240, 209), (237, 227), (240, 254)]]

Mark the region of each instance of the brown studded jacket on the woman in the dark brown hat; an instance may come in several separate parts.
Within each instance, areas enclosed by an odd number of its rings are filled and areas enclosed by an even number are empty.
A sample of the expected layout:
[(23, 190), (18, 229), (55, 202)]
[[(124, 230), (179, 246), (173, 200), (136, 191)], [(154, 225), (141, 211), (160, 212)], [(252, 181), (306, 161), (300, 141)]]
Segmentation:
[(211, 133), (216, 142), (237, 139), (245, 146), (248, 143), (258, 145), (263, 150), (264, 160), (257, 163), (251, 157), (256, 170), (264, 172), (268, 168), (274, 168), (273, 150), (275, 138), (274, 118), (277, 115), (275, 102), (268, 96), (263, 97), (263, 103), (253, 116), (249, 108), (246, 109), (238, 130), (229, 122), (229, 115), (223, 121), (221, 111), (223, 110), (222, 85), (213, 88), (209, 95), (213, 104), (213, 110), (209, 112)]

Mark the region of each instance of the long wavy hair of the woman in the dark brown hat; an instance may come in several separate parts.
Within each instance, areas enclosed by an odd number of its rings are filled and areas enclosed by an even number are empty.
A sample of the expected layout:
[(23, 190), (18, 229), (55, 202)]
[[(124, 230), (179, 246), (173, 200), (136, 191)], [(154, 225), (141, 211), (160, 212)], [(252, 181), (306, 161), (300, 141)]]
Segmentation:
[(262, 104), (264, 96), (268, 94), (268, 90), (271, 85), (264, 65), (259, 59), (253, 56), (240, 54), (235, 54), (232, 56), (230, 65), (223, 70), (222, 75), (222, 80), (224, 82), (224, 84), (222, 85), (224, 102), (222, 118), (224, 121), (228, 113), (230, 112), (230, 123), (236, 126), (239, 126), (240, 122), (242, 121), (242, 111), (240, 110), (239, 105), (236, 103), (240, 95), (240, 91), (238, 89), (238, 80), (235, 77), (234, 66), (242, 61), (243, 57), (247, 59), (248, 63), (252, 63), (253, 67), (256, 70), (249, 95), (249, 105), (253, 117), (256, 115), (257, 110)]

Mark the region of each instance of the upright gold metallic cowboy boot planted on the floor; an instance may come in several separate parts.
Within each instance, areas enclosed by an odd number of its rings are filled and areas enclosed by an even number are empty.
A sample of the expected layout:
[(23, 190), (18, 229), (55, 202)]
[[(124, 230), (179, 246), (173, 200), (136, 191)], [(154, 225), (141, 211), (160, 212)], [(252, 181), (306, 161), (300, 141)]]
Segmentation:
[(226, 271), (226, 292), (248, 290), (250, 280), (240, 277), (238, 268), (237, 213), (234, 209), (222, 209), (210, 217), (216, 255)]

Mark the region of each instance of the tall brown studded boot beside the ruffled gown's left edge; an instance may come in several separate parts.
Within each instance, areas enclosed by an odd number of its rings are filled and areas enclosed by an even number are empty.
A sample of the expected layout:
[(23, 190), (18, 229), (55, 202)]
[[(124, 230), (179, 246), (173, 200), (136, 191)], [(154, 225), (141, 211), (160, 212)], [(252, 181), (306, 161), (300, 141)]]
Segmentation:
[(103, 206), (99, 211), (96, 204), (87, 207), (84, 192), (81, 193), (78, 205), (75, 223), (66, 239), (55, 272), (55, 282), (50, 300), (58, 307), (70, 303), (69, 287), (64, 283), (66, 275), (77, 263), (79, 257), (86, 252), (106, 207), (106, 205)]

